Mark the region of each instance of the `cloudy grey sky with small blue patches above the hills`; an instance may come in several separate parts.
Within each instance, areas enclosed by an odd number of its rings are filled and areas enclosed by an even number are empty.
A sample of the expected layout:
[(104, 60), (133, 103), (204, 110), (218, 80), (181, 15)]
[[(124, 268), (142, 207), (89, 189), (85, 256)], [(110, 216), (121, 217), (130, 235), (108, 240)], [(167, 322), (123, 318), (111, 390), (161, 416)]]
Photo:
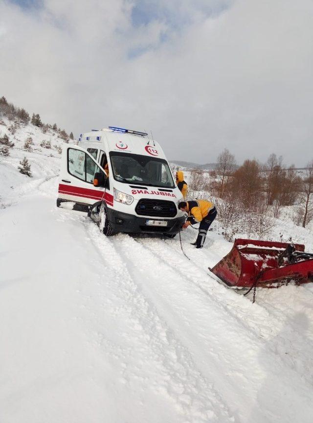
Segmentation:
[(0, 0), (0, 95), (168, 157), (313, 158), (312, 0)]

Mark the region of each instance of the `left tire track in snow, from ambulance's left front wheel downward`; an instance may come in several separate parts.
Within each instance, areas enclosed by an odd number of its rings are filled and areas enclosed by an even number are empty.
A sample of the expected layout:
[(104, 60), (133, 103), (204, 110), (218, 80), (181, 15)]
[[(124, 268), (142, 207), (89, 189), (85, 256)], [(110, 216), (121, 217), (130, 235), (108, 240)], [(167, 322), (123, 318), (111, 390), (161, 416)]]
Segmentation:
[[(87, 232), (102, 259), (111, 267), (114, 263), (118, 295), (129, 308), (134, 327), (139, 332), (137, 336), (141, 340), (141, 357), (145, 361), (141, 377), (145, 377), (147, 366), (156, 366), (158, 380), (150, 380), (149, 383), (152, 383), (158, 394), (174, 401), (184, 422), (234, 422), (225, 401), (197, 369), (192, 354), (159, 315), (151, 299), (144, 295), (137, 282), (138, 274), (134, 265), (120, 249), (120, 239), (105, 238), (94, 224), (87, 226)], [(126, 236), (127, 241), (132, 241), (128, 235), (119, 236), (123, 241)], [(120, 358), (125, 359), (123, 353)], [(137, 370), (132, 373), (132, 369), (127, 369), (125, 373), (131, 373), (132, 377), (138, 376)]]

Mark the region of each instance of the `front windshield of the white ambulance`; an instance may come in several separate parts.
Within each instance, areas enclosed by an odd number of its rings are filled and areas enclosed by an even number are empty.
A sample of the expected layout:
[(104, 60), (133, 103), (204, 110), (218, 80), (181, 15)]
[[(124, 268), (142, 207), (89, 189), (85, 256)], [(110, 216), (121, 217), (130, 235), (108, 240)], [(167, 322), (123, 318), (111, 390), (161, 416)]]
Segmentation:
[(110, 157), (116, 181), (150, 187), (175, 188), (172, 172), (164, 159), (122, 152), (111, 152)]

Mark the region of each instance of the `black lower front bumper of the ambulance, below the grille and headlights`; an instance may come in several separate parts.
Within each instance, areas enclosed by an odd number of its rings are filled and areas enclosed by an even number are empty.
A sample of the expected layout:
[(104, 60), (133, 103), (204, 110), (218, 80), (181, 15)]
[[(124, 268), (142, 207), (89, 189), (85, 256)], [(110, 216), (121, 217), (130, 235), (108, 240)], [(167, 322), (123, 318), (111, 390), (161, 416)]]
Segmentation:
[(185, 222), (184, 216), (168, 219), (151, 217), (151, 219), (167, 221), (167, 226), (147, 226), (146, 221), (149, 217), (135, 216), (134, 214), (123, 213), (110, 208), (108, 208), (107, 211), (110, 224), (112, 225), (114, 231), (117, 232), (172, 235), (178, 234), (181, 225)]

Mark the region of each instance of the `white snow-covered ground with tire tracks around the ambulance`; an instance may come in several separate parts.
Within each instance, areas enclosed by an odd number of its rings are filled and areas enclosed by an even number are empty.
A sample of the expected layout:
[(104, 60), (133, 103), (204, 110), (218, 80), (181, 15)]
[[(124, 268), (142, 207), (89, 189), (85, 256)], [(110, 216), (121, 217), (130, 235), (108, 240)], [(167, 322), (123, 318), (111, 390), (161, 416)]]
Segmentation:
[(252, 305), (208, 271), (217, 232), (182, 234), (190, 261), (179, 237), (106, 238), (56, 208), (49, 154), (0, 158), (0, 422), (311, 423), (313, 286)]

